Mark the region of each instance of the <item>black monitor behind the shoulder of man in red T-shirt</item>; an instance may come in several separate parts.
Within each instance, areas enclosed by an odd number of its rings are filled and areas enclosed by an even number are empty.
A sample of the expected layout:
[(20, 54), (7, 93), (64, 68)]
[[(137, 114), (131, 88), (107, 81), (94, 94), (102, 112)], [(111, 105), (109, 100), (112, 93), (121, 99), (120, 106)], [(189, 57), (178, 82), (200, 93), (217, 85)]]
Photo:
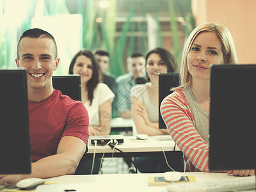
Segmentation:
[(81, 100), (81, 80), (79, 75), (52, 76), (52, 86), (71, 99)]

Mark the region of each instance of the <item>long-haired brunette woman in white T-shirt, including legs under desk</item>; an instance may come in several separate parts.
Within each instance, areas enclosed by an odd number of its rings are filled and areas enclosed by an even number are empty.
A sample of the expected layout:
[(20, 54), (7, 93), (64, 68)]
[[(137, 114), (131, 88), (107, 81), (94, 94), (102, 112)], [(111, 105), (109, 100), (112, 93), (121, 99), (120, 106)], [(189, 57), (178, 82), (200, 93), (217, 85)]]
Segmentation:
[[(107, 135), (111, 131), (111, 104), (115, 97), (109, 87), (99, 83), (99, 66), (93, 53), (87, 49), (78, 51), (69, 66), (68, 74), (81, 76), (82, 102), (89, 114), (89, 136)], [(83, 158), (81, 170), (76, 174), (90, 174), (92, 160)], [(93, 173), (99, 172), (100, 159), (95, 159)]]

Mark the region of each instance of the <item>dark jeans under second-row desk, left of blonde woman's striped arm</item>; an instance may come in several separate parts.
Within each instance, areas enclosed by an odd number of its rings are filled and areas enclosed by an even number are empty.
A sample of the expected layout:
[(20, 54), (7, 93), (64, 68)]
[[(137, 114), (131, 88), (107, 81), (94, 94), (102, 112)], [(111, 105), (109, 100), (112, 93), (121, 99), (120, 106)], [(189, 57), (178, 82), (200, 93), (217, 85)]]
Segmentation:
[[(168, 164), (177, 172), (184, 172), (182, 152), (165, 152)], [(141, 173), (164, 173), (172, 171), (164, 159), (164, 155), (156, 157), (135, 157), (134, 163)]]

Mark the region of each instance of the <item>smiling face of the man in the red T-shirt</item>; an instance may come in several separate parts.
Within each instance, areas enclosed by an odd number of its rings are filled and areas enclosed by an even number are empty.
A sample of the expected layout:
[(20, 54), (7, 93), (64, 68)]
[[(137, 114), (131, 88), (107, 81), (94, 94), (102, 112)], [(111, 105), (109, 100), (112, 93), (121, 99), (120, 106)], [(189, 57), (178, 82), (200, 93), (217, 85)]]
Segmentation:
[(58, 68), (56, 48), (50, 38), (22, 38), (19, 44), (17, 67), (27, 70), (28, 90), (52, 90), (52, 74)]

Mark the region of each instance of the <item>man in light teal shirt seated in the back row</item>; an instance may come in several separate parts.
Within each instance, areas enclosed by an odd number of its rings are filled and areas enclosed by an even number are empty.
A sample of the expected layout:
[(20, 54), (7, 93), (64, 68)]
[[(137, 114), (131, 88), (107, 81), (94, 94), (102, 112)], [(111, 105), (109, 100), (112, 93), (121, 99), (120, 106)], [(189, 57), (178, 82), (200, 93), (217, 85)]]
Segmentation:
[(131, 118), (131, 88), (135, 85), (137, 77), (145, 77), (145, 57), (135, 52), (127, 58), (127, 74), (116, 78), (117, 90), (114, 106), (118, 116)]

